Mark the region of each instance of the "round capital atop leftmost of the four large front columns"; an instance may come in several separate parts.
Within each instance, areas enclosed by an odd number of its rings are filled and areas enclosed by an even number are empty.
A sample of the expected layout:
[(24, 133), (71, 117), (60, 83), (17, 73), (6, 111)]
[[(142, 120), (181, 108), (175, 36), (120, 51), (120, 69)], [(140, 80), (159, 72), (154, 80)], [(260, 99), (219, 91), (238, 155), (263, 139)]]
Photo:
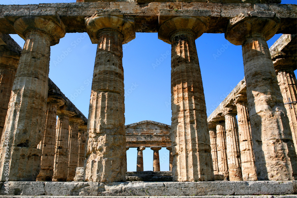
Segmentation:
[(51, 45), (59, 43), (60, 38), (66, 34), (64, 23), (58, 15), (54, 16), (26, 16), (18, 18), (13, 23), (15, 32), (26, 40), (26, 34), (30, 30), (39, 30), (50, 36)]

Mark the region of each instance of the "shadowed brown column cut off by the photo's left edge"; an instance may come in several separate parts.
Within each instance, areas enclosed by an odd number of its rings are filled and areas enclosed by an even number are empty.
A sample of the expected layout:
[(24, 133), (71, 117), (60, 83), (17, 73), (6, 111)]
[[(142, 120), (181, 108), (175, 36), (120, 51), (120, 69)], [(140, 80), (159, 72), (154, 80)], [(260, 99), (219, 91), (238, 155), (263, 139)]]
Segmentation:
[(0, 56), (0, 137), (5, 124), (8, 103), (18, 68), (17, 58)]

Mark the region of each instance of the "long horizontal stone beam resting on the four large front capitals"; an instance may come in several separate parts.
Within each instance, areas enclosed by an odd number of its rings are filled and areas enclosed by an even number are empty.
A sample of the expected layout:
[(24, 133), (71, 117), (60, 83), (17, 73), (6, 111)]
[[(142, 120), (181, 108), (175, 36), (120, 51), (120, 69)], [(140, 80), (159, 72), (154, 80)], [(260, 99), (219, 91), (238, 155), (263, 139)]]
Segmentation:
[[(280, 18), (277, 32), (295, 34), (297, 27), (296, 4), (249, 4), (249, 3), (184, 3), (184, 2), (80, 2), (29, 5), (0, 5), (0, 28), (3, 34), (15, 34), (12, 21), (22, 16), (53, 16), (58, 14), (68, 33), (86, 32), (84, 18), (98, 10), (134, 17), (136, 32), (157, 32), (159, 14), (168, 16), (200, 16), (209, 18), (206, 33), (224, 33), (230, 18), (241, 12), (271, 11)], [(167, 11), (162, 11), (167, 10)], [(161, 12), (162, 11), (162, 12)]]

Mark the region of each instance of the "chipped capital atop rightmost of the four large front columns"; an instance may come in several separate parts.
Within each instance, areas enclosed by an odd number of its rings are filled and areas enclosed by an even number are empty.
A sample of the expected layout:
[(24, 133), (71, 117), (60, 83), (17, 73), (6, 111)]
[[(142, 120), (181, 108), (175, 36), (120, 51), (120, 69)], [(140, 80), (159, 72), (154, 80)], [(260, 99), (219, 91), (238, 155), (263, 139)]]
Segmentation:
[(243, 45), (247, 39), (262, 37), (271, 39), (279, 28), (275, 12), (241, 12), (229, 20), (225, 38), (234, 45)]

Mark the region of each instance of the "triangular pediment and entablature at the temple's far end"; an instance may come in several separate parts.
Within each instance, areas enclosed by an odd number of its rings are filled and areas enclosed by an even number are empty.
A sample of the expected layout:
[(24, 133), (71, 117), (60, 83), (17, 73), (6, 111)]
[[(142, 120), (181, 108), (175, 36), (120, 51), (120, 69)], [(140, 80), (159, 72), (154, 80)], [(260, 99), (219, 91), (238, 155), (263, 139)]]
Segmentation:
[(126, 125), (126, 146), (171, 146), (171, 126), (150, 120)]

